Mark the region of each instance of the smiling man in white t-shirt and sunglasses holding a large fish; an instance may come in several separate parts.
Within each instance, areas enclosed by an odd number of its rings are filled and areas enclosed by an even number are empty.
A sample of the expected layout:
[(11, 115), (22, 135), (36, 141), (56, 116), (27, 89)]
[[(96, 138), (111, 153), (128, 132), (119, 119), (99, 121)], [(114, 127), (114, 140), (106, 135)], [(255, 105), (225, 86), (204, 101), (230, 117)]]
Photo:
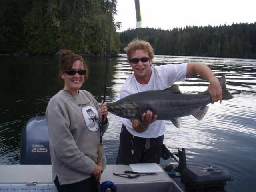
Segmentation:
[[(134, 72), (124, 82), (120, 99), (146, 90), (166, 89), (186, 76), (199, 74), (210, 84), (207, 91), (212, 103), (222, 101), (222, 89), (218, 79), (208, 66), (202, 63), (168, 64), (152, 66), (154, 57), (150, 43), (134, 39), (126, 48), (128, 62)], [(164, 140), (165, 122), (157, 120), (151, 111), (142, 114), (142, 121), (148, 126), (145, 130), (138, 120), (122, 119), (120, 145), (116, 164), (160, 163)]]

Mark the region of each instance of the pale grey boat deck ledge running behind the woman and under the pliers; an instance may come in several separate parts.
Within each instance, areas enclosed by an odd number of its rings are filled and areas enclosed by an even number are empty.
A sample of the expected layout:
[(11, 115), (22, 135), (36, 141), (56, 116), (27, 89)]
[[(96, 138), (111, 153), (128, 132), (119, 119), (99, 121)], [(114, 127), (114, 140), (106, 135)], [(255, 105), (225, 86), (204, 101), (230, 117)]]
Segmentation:
[[(157, 175), (144, 175), (128, 179), (113, 175), (132, 170), (129, 165), (107, 165), (101, 182), (112, 181), (118, 192), (182, 192), (164, 171)], [(0, 165), (0, 191), (51, 191), (57, 192), (52, 182), (51, 165)]]

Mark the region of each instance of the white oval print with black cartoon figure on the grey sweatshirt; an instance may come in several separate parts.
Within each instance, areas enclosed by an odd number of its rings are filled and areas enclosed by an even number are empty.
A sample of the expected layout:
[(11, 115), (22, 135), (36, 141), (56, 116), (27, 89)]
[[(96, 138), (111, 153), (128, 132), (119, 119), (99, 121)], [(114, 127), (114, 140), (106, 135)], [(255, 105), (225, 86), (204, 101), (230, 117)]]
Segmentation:
[(85, 124), (89, 131), (96, 132), (100, 128), (100, 122), (98, 118), (98, 111), (92, 106), (83, 106), (82, 114)]

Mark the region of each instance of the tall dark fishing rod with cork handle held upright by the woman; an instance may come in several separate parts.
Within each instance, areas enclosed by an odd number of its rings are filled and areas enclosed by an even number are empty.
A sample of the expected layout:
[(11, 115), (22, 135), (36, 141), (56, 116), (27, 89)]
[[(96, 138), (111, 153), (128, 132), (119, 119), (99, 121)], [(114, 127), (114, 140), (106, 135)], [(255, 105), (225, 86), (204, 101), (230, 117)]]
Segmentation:
[[(106, 87), (107, 87), (107, 76), (108, 76), (108, 62), (109, 62), (109, 49), (110, 49), (110, 38), (111, 38), (111, 28), (112, 28), (112, 18), (113, 18), (113, 9), (114, 9), (114, 0), (112, 0), (112, 10), (110, 16), (110, 27), (109, 27), (109, 35), (108, 35), (108, 48), (107, 48), (107, 56), (106, 56), (106, 69), (105, 69), (105, 85), (104, 85), (104, 96), (103, 96), (103, 103), (106, 100)], [(99, 166), (102, 165), (102, 153), (103, 153), (103, 124), (104, 124), (104, 116), (101, 119), (101, 126), (100, 126), (100, 143), (98, 146), (98, 162)], [(97, 182), (97, 189), (100, 189), (100, 182)]]

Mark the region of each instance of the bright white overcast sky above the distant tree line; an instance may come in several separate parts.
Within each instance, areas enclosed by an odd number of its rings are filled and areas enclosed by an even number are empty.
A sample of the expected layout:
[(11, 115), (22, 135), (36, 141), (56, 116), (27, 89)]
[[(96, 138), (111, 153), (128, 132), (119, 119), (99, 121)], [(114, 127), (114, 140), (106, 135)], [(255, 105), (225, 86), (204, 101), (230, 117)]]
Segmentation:
[[(120, 31), (136, 28), (134, 0), (118, 0)], [(164, 30), (256, 22), (256, 0), (140, 0), (141, 27)]]

